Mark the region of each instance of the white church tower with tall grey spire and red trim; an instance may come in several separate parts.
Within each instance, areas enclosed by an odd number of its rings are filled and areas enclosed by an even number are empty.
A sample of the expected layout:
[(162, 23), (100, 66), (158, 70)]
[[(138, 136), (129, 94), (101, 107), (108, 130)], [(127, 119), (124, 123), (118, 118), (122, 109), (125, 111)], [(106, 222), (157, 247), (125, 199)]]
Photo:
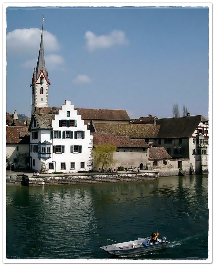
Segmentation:
[(48, 107), (49, 85), (51, 85), (51, 83), (49, 82), (48, 72), (45, 67), (42, 24), (41, 45), (37, 60), (37, 67), (36, 70), (34, 68), (32, 84), (30, 85), (32, 87), (31, 115), (35, 112), (36, 107)]

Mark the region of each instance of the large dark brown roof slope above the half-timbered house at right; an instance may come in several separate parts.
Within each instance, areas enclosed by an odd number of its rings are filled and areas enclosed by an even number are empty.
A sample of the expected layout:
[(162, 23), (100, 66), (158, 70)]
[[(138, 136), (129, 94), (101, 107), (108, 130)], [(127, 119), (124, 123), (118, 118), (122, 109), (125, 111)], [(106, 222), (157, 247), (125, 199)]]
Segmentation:
[(183, 138), (191, 137), (201, 121), (207, 121), (202, 115), (158, 119), (160, 125), (158, 138)]

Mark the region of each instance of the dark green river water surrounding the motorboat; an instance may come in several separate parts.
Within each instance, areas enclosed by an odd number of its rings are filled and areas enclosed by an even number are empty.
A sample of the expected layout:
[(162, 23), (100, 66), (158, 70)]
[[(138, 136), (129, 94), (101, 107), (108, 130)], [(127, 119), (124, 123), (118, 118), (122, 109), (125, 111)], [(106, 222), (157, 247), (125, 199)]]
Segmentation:
[(133, 259), (208, 258), (208, 176), (6, 186), (8, 259), (114, 259), (99, 246), (159, 231), (167, 248)]

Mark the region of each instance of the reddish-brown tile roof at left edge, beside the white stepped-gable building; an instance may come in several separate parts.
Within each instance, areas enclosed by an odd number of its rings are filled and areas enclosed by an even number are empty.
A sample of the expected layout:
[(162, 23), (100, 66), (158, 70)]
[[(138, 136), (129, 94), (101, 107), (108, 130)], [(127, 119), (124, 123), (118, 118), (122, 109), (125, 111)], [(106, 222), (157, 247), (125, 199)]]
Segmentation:
[(30, 133), (27, 127), (6, 127), (7, 144), (29, 144)]

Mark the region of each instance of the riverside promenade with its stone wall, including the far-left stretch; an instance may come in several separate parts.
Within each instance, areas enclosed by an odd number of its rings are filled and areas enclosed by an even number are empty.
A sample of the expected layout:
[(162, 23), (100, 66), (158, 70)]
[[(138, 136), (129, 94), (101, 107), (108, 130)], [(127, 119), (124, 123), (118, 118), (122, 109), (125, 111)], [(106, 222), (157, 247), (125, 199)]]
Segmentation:
[(140, 172), (117, 172), (117, 173), (61, 173), (40, 174), (33, 177), (30, 172), (6, 171), (6, 184), (22, 184), (24, 186), (47, 186), (60, 184), (86, 184), (107, 182), (131, 182), (140, 180), (157, 180), (159, 171), (142, 170)]

